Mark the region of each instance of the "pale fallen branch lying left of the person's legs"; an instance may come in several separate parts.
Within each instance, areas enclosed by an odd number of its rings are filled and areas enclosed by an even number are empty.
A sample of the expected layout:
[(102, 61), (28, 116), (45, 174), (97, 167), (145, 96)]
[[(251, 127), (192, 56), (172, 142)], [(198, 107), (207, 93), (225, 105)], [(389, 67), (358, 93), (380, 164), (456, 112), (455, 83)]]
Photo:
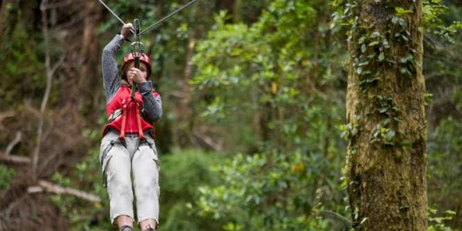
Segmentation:
[(101, 198), (99, 198), (99, 196), (95, 196), (91, 193), (80, 191), (78, 189), (59, 186), (58, 184), (53, 184), (45, 180), (39, 180), (38, 186), (29, 186), (29, 188), (27, 189), (28, 193), (41, 193), (42, 191), (56, 193), (58, 195), (69, 194), (72, 196), (76, 196), (77, 198), (81, 198), (91, 202), (101, 202)]

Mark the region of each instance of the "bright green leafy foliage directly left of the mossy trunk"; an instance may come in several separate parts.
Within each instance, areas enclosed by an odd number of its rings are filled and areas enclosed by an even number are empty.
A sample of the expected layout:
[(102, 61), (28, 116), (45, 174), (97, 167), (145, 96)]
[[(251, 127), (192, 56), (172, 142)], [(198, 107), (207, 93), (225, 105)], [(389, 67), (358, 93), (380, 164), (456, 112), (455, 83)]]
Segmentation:
[(337, 150), (344, 148), (335, 129), (344, 114), (336, 88), (341, 68), (333, 66), (342, 56), (339, 46), (323, 38), (330, 33), (327, 25), (316, 24), (326, 16), (319, 13), (324, 8), (321, 2), (277, 0), (250, 25), (228, 24), (222, 11), (198, 44), (191, 83), (198, 94), (212, 97), (200, 105), (205, 122), (237, 122), (239, 129), (227, 131), (239, 137), (252, 121), (262, 121), (252, 131), (258, 154), (237, 155), (216, 169), (221, 185), (200, 188), (198, 214), (225, 230), (342, 227), (314, 212), (318, 189), (326, 191), (323, 206), (337, 211), (343, 202), (333, 193), (341, 190), (335, 180), (340, 168), (334, 166), (342, 165)]

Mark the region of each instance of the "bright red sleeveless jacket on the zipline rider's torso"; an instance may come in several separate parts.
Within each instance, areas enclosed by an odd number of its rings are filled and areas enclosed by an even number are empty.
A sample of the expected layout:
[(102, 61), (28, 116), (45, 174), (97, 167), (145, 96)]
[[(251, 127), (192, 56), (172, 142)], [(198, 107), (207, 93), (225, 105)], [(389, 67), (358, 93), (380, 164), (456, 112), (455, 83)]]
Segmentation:
[[(159, 93), (153, 92), (152, 93), (154, 97), (157, 97)], [(111, 119), (111, 115), (118, 109), (122, 109), (122, 103), (125, 100), (125, 103), (130, 102), (131, 96), (132, 95), (132, 89), (127, 87), (127, 86), (120, 86), (119, 90), (117, 91), (116, 95), (111, 99), (111, 101), (106, 105), (106, 116)], [(141, 94), (136, 91), (135, 93), (135, 98), (138, 100), (138, 102), (141, 103), (140, 108), (143, 108), (143, 98), (141, 97)], [(136, 104), (134, 103), (128, 103), (127, 104), (127, 118), (125, 122), (125, 134), (138, 134), (138, 121), (136, 117), (136, 110), (138, 110), (138, 113), (141, 113), (139, 109), (137, 108)], [(117, 132), (121, 132), (122, 128), (122, 113), (116, 114), (115, 119), (110, 121), (106, 126), (104, 126), (102, 136), (108, 132), (109, 128), (115, 129)], [(139, 115), (139, 114), (138, 114)], [(154, 137), (154, 127), (150, 125), (149, 122), (146, 122), (144, 118), (141, 116), (141, 128), (143, 132), (147, 132), (149, 130), (152, 130), (152, 136)]]

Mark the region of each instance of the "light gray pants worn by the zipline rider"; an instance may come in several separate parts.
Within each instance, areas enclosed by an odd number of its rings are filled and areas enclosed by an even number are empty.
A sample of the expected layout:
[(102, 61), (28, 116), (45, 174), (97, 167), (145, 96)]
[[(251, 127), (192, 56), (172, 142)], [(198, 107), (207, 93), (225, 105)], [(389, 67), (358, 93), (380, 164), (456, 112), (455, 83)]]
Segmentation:
[(120, 215), (135, 221), (134, 193), (138, 225), (146, 219), (159, 224), (160, 166), (154, 140), (146, 135), (144, 141), (139, 141), (138, 134), (127, 134), (123, 143), (118, 136), (113, 131), (104, 135), (99, 152), (103, 184), (109, 194), (111, 224), (117, 226), (116, 218)]

